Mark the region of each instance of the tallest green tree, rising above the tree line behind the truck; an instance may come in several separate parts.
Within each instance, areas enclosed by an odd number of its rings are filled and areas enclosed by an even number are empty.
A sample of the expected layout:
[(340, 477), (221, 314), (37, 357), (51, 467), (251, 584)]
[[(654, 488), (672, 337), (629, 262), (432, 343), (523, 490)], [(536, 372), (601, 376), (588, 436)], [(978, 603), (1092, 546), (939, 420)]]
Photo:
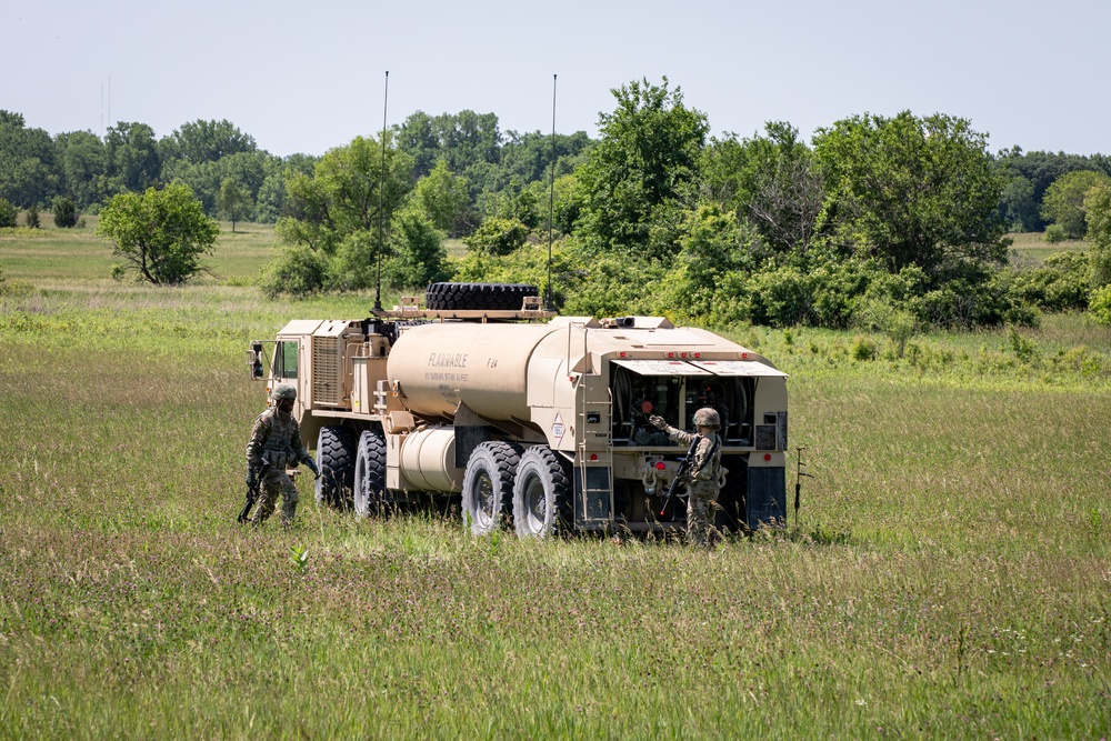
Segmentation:
[(618, 107), (599, 120), (601, 140), (578, 170), (577, 232), (594, 251), (670, 257), (679, 211), (691, 196), (709, 130), (677, 87), (632, 82), (612, 91)]

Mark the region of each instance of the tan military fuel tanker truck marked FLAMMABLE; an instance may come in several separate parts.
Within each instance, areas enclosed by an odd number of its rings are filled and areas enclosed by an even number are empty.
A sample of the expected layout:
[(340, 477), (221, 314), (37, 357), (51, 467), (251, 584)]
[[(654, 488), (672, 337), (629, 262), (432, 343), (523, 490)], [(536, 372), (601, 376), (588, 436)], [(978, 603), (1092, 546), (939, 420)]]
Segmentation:
[(712, 407), (718, 527), (785, 523), (787, 377), (763, 357), (660, 317), (557, 317), (534, 287), (423, 298), (251, 343), (253, 375), (297, 389), (318, 502), (368, 515), (458, 498), (476, 534), (681, 529), (685, 507), (661, 507), (687, 449), (648, 418), (692, 429)]

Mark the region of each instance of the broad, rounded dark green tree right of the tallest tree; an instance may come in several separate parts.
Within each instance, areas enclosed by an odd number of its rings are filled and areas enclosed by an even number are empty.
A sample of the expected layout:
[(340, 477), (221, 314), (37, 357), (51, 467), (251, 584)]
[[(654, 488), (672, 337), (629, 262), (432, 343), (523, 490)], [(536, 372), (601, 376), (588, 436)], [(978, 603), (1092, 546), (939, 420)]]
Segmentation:
[(860, 116), (820, 129), (814, 153), (827, 183), (824, 212), (842, 251), (918, 266), (933, 287), (1002, 264), (1002, 182), (987, 138), (964, 119)]

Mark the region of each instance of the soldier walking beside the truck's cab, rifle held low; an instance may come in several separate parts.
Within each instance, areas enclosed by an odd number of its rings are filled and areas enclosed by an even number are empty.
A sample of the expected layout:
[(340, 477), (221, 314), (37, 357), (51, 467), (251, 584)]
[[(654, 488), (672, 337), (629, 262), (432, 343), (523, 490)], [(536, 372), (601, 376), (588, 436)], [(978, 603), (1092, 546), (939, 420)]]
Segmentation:
[(258, 509), (251, 518), (256, 528), (273, 513), (278, 494), (282, 497), (281, 523), (283, 527), (292, 524), (297, 512), (297, 487), (286, 473), (287, 467), (296, 468), (304, 463), (314, 475), (320, 475), (317, 462), (301, 442), (301, 429), (293, 419), (297, 389), (279, 385), (270, 398), (273, 404), (254, 420), (251, 440), (247, 443), (247, 485), (250, 489), (259, 487)]

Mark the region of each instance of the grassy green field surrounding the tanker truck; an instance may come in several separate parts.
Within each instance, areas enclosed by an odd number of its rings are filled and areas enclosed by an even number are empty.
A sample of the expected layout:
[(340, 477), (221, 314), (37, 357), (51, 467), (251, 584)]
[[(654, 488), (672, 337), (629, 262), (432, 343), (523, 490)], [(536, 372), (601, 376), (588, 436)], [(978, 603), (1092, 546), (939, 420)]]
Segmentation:
[(0, 738), (1111, 733), (1108, 328), (738, 328), (817, 478), (709, 554), (356, 521), (307, 480), (253, 532), (248, 341), (371, 298), (261, 300), (249, 229), (173, 289), (108, 279), (91, 227), (0, 236)]

